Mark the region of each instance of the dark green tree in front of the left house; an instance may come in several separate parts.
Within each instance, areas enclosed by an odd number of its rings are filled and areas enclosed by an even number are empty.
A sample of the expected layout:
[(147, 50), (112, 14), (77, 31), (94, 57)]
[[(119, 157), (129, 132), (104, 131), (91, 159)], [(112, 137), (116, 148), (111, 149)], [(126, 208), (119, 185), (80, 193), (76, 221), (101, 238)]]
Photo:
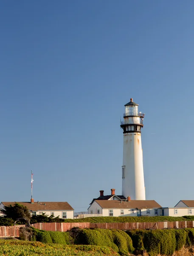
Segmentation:
[(28, 226), (30, 226), (31, 214), (26, 206), (15, 203), (14, 206), (10, 204), (9, 206), (5, 206), (4, 208), (5, 209), (1, 209), (1, 212), (6, 215), (6, 218), (11, 218), (15, 222), (19, 220), (24, 220), (25, 222), (27, 222)]

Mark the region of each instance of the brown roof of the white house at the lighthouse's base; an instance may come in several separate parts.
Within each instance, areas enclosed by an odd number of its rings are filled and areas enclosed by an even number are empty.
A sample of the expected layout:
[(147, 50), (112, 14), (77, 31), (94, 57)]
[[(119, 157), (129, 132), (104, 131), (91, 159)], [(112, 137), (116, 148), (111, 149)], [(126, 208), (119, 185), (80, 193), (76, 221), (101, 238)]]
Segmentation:
[(151, 209), (151, 208), (161, 208), (161, 205), (158, 204), (155, 200), (131, 200), (127, 201), (118, 201), (118, 200), (95, 200), (99, 206), (102, 208), (118, 208), (118, 209)]

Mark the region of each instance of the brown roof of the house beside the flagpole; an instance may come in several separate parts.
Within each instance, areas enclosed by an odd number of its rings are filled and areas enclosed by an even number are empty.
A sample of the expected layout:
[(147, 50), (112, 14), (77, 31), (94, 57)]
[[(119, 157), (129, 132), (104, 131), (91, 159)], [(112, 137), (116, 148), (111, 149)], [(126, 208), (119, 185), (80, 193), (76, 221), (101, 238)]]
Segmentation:
[(14, 205), (15, 203), (26, 206), (33, 212), (37, 211), (49, 211), (49, 210), (73, 210), (73, 208), (67, 202), (2, 202), (4, 206)]

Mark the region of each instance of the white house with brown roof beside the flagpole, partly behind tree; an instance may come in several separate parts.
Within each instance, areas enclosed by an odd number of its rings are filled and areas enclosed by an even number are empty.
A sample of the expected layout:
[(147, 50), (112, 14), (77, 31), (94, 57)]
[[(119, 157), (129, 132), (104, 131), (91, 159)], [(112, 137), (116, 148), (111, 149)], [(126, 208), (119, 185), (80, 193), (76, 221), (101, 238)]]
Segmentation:
[[(59, 218), (72, 218), (74, 209), (67, 202), (34, 202), (34, 199), (31, 199), (31, 202), (1, 202), (0, 209), (5, 209), (5, 206), (14, 205), (15, 203), (22, 204), (26, 206), (31, 215), (39, 215), (45, 213), (46, 215), (54, 215)], [(3, 215), (1, 213), (1, 215)]]

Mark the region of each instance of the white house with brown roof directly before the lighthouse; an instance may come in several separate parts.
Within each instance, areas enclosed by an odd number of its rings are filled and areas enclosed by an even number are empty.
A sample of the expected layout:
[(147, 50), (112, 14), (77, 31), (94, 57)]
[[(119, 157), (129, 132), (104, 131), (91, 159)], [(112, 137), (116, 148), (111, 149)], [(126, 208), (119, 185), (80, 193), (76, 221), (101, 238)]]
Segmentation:
[(158, 216), (161, 206), (154, 200), (94, 200), (88, 208), (88, 214), (102, 216)]

